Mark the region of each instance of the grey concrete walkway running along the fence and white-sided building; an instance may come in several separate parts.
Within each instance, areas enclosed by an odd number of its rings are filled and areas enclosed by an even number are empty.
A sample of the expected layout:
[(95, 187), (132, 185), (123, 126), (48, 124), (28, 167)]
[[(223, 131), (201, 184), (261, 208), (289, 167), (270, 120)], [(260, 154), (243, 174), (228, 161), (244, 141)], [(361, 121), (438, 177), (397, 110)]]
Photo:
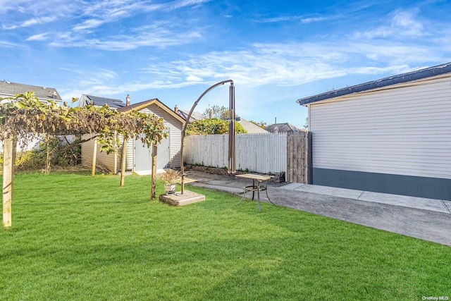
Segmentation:
[[(245, 181), (187, 171), (187, 184), (242, 195)], [(450, 201), (301, 183), (269, 183), (268, 195), (279, 206), (451, 246)], [(252, 197), (249, 192), (247, 197)], [(261, 201), (268, 202), (265, 193)]]

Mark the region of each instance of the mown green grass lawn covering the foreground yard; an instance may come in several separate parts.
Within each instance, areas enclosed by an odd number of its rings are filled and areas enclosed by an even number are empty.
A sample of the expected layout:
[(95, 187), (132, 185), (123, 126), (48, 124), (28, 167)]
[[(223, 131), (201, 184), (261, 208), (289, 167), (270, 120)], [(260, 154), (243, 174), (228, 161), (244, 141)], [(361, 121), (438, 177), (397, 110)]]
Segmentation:
[[(451, 247), (150, 178), (16, 175), (0, 300), (423, 300), (451, 297)], [(163, 185), (157, 194), (163, 193)]]

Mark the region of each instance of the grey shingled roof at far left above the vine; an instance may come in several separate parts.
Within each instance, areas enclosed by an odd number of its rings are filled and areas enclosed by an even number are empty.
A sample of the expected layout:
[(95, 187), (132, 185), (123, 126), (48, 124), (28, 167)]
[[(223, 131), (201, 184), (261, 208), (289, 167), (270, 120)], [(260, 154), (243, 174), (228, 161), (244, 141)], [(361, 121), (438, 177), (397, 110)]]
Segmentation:
[(0, 81), (0, 97), (14, 97), (16, 94), (30, 91), (35, 92), (35, 96), (40, 100), (52, 100), (54, 102), (61, 102), (62, 100), (55, 88), (25, 85), (17, 82), (7, 82), (6, 80)]

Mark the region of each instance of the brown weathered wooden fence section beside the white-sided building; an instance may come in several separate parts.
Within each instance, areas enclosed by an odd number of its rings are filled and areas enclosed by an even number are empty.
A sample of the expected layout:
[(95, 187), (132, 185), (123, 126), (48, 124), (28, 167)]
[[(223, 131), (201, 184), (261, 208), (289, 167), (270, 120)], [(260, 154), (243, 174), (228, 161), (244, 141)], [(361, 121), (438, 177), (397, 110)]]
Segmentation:
[(311, 184), (311, 132), (287, 135), (287, 181)]

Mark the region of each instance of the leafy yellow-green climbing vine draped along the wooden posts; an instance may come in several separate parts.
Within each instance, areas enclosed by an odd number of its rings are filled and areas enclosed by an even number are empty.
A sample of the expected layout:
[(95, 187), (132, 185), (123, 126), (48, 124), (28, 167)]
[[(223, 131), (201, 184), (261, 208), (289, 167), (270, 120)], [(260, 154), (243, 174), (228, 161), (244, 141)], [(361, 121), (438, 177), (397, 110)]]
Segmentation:
[(121, 146), (120, 136), (152, 145), (167, 136), (165, 130), (163, 118), (154, 114), (118, 112), (107, 105), (80, 108), (59, 106), (52, 101), (46, 104), (34, 92), (17, 94), (0, 104), (0, 140), (17, 137), (22, 146), (36, 135), (94, 134), (89, 140), (96, 138), (101, 150), (110, 153)]

